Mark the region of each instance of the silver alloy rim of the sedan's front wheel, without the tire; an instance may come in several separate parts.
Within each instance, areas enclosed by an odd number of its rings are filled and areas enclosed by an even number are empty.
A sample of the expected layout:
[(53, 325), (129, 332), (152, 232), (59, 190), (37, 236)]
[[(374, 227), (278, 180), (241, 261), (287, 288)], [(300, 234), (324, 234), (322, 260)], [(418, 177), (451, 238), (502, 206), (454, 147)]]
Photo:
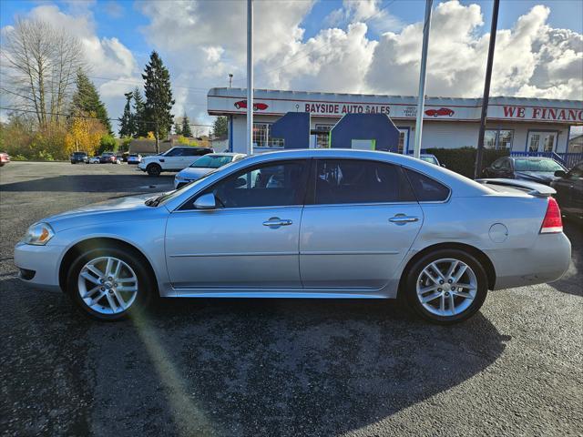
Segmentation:
[(78, 292), (100, 314), (128, 310), (138, 295), (138, 277), (128, 263), (114, 257), (91, 259), (79, 272)]

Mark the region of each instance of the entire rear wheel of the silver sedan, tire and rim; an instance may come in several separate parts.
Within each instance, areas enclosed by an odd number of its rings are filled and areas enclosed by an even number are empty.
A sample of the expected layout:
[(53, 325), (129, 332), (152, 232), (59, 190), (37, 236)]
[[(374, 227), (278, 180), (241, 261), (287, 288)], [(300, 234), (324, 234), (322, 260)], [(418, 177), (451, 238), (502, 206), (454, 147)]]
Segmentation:
[(441, 324), (466, 320), (482, 307), (486, 271), (463, 250), (439, 249), (417, 259), (407, 272), (405, 296), (424, 319)]

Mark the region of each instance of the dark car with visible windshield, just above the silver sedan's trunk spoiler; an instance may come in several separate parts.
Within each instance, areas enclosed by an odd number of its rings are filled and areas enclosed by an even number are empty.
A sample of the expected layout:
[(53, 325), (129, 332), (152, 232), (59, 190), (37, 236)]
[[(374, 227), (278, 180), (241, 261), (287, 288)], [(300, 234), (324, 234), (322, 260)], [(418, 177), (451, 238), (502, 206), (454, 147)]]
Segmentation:
[(486, 178), (523, 179), (549, 185), (559, 170), (567, 172), (552, 158), (503, 157), (496, 159), (484, 174)]

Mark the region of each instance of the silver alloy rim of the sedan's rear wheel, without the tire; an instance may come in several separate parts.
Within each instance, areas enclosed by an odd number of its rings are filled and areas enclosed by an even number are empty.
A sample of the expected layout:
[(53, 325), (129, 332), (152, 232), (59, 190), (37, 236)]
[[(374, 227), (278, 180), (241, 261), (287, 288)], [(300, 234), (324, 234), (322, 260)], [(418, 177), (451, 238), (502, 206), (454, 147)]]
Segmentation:
[(416, 282), (417, 299), (437, 316), (455, 316), (476, 299), (476, 273), (459, 259), (436, 259), (425, 266)]

